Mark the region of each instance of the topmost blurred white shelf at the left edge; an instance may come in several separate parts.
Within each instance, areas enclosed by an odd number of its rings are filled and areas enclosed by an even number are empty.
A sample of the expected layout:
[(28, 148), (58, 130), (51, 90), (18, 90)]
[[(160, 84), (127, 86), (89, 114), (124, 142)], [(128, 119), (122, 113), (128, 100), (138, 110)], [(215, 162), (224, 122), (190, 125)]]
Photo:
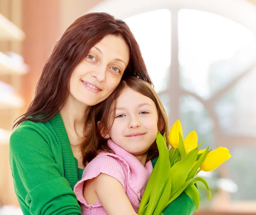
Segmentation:
[(0, 40), (23, 40), (24, 38), (24, 32), (0, 14)]

